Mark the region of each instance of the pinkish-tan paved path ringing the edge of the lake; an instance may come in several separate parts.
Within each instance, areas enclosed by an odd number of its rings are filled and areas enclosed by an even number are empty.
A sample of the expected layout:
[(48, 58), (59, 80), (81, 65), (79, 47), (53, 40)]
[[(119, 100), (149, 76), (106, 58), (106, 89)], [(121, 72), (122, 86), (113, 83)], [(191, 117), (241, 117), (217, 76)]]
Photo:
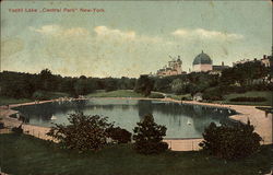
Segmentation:
[[(265, 114), (265, 112), (257, 109), (256, 106), (247, 106), (247, 105), (227, 105), (227, 104), (212, 104), (212, 103), (201, 103), (195, 101), (177, 101), (173, 98), (147, 98), (147, 97), (91, 97), (91, 98), (69, 98), (69, 100), (50, 100), (50, 101), (41, 101), (41, 102), (29, 102), (23, 104), (13, 104), (8, 106), (0, 106), (0, 116), (2, 117), (2, 121), (4, 126), (8, 127), (19, 127), (22, 122), (16, 118), (11, 118), (12, 114), (16, 114), (17, 110), (12, 108), (25, 105), (35, 105), (35, 104), (44, 104), (59, 101), (85, 101), (92, 98), (109, 98), (109, 100), (147, 100), (147, 101), (163, 101), (163, 102), (174, 102), (180, 104), (190, 104), (190, 105), (201, 105), (201, 106), (210, 106), (210, 107), (218, 107), (218, 108), (228, 108), (235, 110), (237, 114), (229, 116), (230, 119), (241, 121), (247, 124), (248, 119), (251, 125), (254, 126), (256, 131), (263, 138), (264, 144), (272, 143), (272, 114)], [(34, 125), (22, 125), (22, 128), (25, 133), (32, 135), (34, 137), (44, 139), (44, 140), (52, 140), (52, 138), (48, 137), (46, 133), (49, 131), (49, 127), (34, 126)], [(164, 139), (165, 142), (169, 144), (169, 148), (174, 151), (193, 151), (199, 150), (198, 145), (201, 142), (202, 138), (193, 138), (193, 139)]]

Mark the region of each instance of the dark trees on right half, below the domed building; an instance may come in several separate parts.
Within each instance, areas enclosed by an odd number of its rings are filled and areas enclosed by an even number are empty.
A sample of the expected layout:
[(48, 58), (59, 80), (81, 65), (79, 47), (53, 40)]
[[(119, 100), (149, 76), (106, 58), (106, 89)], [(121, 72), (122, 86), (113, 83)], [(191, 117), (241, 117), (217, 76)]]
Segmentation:
[(171, 77), (141, 75), (135, 91), (149, 94), (151, 90), (177, 95), (203, 93), (204, 100), (221, 101), (225, 94), (247, 91), (272, 91), (272, 70), (260, 61), (236, 65), (221, 74), (191, 72)]

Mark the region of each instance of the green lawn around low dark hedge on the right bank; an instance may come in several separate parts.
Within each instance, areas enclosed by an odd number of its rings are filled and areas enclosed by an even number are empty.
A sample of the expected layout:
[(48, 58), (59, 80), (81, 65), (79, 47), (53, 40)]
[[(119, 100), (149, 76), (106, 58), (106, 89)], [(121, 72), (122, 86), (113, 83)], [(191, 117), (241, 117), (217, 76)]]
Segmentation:
[[(224, 96), (223, 103), (225, 104), (235, 104), (235, 105), (256, 105), (256, 106), (272, 106), (272, 96), (273, 93), (271, 91), (249, 91), (246, 93), (233, 93)], [(232, 98), (235, 97), (264, 97), (265, 102), (230, 102)]]

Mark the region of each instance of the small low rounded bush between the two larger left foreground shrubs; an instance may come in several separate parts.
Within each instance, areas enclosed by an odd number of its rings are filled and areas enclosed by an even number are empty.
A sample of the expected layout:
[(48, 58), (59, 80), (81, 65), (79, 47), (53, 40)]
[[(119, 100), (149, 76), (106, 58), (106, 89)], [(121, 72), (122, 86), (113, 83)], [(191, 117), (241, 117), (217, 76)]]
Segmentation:
[(118, 143), (128, 143), (131, 141), (132, 133), (120, 127), (107, 128), (106, 132), (108, 137), (110, 137), (114, 141), (117, 141)]

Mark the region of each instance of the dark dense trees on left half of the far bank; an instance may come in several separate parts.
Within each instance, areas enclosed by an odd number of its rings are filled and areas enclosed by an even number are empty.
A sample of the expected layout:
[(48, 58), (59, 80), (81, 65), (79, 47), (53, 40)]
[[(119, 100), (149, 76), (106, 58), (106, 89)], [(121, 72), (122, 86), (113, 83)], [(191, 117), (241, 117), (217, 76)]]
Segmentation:
[[(52, 74), (41, 70), (38, 74), (3, 71), (0, 72), (0, 95), (14, 98), (49, 100), (51, 92), (62, 92), (69, 96), (86, 95), (95, 90), (132, 90), (136, 79), (80, 78)], [(58, 96), (57, 96), (58, 97)]]

